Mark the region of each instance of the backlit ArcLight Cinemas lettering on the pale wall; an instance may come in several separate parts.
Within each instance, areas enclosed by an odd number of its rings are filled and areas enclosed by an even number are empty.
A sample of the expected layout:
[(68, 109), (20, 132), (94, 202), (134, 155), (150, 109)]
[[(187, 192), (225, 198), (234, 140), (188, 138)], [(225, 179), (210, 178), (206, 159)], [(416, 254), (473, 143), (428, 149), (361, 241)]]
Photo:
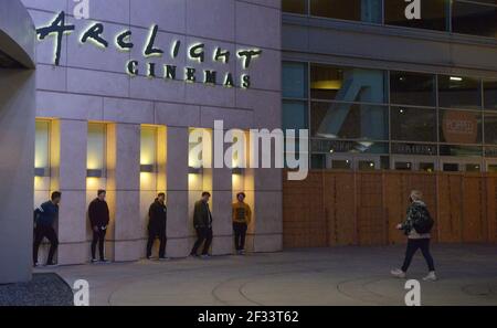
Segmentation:
[[(65, 12), (62, 11), (46, 27), (36, 29), (38, 39), (40, 41), (45, 40), (47, 36), (53, 36), (55, 39), (54, 64), (56, 66), (59, 66), (61, 62), (63, 36), (75, 31), (75, 25), (67, 24), (65, 18)], [(129, 76), (142, 75), (150, 78), (160, 77), (171, 81), (182, 80), (188, 83), (201, 82), (208, 85), (222, 85), (224, 87), (251, 87), (251, 76), (247, 72), (252, 62), (262, 54), (262, 50), (241, 49), (237, 50), (235, 54), (232, 54), (230, 51), (220, 46), (207, 49), (203, 43), (183, 45), (180, 40), (171, 40), (171, 46), (168, 49), (171, 60), (177, 59), (183, 47), (188, 53), (189, 61), (197, 63), (205, 63), (207, 59), (210, 57), (214, 63), (228, 64), (236, 56), (235, 60), (240, 61), (243, 67), (241, 76), (234, 77), (232, 72), (226, 72), (223, 73), (223, 76), (219, 76), (220, 74), (218, 74), (216, 71), (202, 70), (202, 72), (198, 72), (198, 68), (188, 66), (188, 64), (184, 67), (178, 67), (177, 65), (168, 63), (157, 64), (156, 62), (152, 62), (151, 59), (154, 57), (163, 57), (166, 53), (165, 50), (167, 50), (163, 45), (156, 44), (158, 32), (159, 25), (154, 24), (145, 41), (142, 50), (144, 62), (131, 59), (125, 64), (124, 68)], [(105, 35), (105, 25), (99, 22), (94, 22), (85, 31), (82, 31), (80, 43), (91, 43), (91, 46), (107, 49), (109, 47), (110, 41), (110, 39), (107, 38), (108, 36)], [(115, 35), (112, 41), (114, 41), (116, 50), (120, 52), (130, 52), (131, 49), (136, 46), (133, 40), (131, 30), (129, 29)]]

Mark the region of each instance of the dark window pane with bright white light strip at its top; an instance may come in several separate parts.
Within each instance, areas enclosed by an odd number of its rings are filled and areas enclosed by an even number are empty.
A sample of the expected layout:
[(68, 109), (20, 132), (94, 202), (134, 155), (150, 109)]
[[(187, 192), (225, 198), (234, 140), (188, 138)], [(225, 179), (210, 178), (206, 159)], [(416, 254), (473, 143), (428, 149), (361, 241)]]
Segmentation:
[(463, 76), (438, 76), (440, 106), (477, 109), (482, 107), (479, 80)]

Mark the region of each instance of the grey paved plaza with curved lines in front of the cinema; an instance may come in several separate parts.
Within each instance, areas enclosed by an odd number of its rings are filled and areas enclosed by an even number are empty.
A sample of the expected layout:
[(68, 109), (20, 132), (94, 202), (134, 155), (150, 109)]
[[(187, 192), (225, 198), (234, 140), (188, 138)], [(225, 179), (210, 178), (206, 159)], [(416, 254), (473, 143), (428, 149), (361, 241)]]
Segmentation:
[[(311, 248), (55, 272), (70, 285), (87, 279), (91, 305), (403, 305), (405, 281), (389, 275), (403, 252), (403, 246)], [(497, 305), (497, 245), (434, 245), (433, 255), (440, 281), (421, 282), (423, 305)], [(425, 273), (419, 253), (410, 278)]]

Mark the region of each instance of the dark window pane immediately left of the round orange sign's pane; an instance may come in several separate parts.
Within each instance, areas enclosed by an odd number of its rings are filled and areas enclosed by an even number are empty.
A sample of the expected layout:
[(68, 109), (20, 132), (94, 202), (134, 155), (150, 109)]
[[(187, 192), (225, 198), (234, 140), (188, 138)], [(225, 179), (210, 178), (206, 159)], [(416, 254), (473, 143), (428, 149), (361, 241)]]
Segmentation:
[(436, 110), (392, 107), (390, 119), (393, 140), (436, 142)]

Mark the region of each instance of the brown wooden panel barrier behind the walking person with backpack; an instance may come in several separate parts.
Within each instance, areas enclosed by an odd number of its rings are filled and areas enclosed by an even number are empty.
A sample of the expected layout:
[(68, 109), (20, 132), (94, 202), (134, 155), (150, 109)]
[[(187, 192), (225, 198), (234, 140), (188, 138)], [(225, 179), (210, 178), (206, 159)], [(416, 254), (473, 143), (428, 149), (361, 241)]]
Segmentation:
[(413, 189), (436, 221), (435, 242), (497, 242), (495, 173), (316, 170), (304, 181), (284, 178), (284, 246), (405, 243), (395, 224)]

